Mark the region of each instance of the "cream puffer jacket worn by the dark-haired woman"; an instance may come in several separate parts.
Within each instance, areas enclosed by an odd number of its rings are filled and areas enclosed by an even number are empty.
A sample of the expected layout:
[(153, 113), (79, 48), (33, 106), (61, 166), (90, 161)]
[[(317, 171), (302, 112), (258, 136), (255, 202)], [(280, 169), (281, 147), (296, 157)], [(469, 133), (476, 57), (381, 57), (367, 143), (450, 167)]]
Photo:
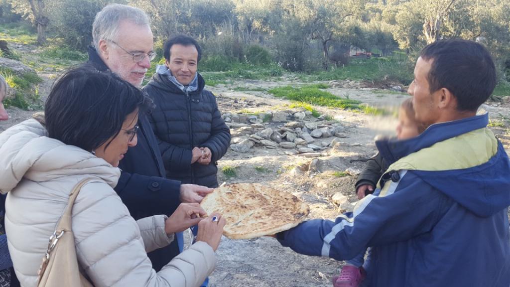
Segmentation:
[(29, 119), (0, 134), (0, 192), (8, 193), (5, 225), (22, 286), (37, 285), (48, 238), (73, 187), (92, 178), (72, 209), (78, 261), (99, 286), (199, 286), (214, 270), (207, 243), (197, 242), (156, 273), (146, 252), (168, 245), (166, 216), (135, 221), (113, 187), (120, 171), (78, 147), (45, 136)]

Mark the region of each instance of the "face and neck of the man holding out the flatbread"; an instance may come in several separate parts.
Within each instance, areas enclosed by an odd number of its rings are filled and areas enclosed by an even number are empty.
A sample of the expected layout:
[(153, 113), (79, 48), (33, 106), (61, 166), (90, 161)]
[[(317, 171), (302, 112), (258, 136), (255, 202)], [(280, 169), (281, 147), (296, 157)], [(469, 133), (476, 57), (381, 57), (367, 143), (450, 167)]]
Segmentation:
[(432, 61), (425, 61), (421, 57), (418, 58), (414, 70), (414, 81), (409, 86), (409, 89), (407, 89), (407, 93), (413, 96), (416, 121), (426, 125), (435, 124), (440, 114), (438, 93), (441, 90), (430, 93), (427, 79)]

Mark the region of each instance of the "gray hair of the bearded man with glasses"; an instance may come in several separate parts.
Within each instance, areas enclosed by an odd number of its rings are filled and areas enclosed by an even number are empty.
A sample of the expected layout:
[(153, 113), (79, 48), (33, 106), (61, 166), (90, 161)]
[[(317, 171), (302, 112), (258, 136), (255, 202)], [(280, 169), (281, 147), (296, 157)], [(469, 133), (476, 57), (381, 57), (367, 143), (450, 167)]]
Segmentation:
[(95, 49), (98, 49), (101, 39), (116, 40), (121, 21), (130, 21), (139, 26), (150, 26), (149, 18), (142, 10), (121, 4), (110, 4), (96, 14), (92, 24)]

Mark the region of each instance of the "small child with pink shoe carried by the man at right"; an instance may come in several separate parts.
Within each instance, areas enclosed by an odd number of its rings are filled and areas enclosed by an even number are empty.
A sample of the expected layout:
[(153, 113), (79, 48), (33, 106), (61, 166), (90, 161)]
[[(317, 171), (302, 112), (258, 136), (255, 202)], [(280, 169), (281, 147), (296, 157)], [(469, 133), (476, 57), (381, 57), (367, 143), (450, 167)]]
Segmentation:
[[(416, 120), (413, 99), (409, 98), (403, 101), (398, 112), (398, 125), (396, 128), (397, 139), (404, 140), (416, 137), (421, 134), (425, 128), (425, 125)], [(377, 153), (377, 155), (367, 161), (358, 176), (358, 181), (355, 183), (358, 199), (361, 200), (365, 196), (374, 193), (377, 182), (387, 169), (388, 165), (380, 153)], [(333, 278), (334, 287), (358, 287), (360, 285), (366, 276), (365, 269), (363, 269), (365, 251), (366, 250), (362, 251), (350, 260), (346, 260), (340, 275)], [(368, 249), (367, 257), (369, 256), (370, 249)]]

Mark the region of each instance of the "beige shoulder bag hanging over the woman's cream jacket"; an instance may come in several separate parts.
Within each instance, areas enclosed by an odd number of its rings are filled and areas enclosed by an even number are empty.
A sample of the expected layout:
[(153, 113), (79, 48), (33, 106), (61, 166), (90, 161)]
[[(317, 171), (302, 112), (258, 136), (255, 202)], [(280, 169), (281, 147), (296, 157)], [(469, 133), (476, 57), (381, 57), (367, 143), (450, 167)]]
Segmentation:
[(89, 180), (91, 179), (84, 179), (74, 186), (64, 214), (55, 232), (49, 237), (48, 250), (44, 258), (42, 258), (41, 268), (38, 272), (39, 280), (37, 286), (39, 287), (93, 287), (78, 267), (74, 235), (71, 229), (72, 205), (82, 186)]

